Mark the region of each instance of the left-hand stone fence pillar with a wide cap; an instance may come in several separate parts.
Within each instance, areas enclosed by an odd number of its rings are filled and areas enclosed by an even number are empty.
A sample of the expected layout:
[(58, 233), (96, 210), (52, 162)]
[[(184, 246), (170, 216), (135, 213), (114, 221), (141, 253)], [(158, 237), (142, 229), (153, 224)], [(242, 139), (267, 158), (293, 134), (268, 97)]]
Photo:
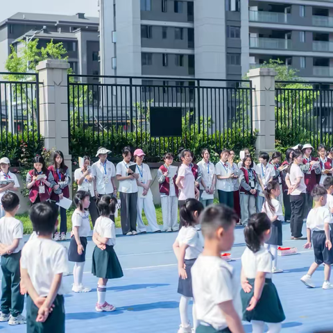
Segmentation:
[(67, 102), (69, 63), (67, 60), (44, 60), (36, 69), (40, 76), (40, 135), (44, 137), (45, 148), (62, 151), (71, 175)]

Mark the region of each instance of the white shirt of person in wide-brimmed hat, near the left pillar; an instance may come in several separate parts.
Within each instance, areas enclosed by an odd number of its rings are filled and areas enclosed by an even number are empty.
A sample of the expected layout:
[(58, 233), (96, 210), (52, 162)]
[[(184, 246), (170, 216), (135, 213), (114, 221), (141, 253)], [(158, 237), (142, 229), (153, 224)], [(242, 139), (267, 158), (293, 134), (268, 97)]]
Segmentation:
[(100, 161), (92, 164), (92, 175), (95, 178), (96, 190), (99, 194), (113, 193), (111, 178), (116, 176), (116, 168), (112, 162), (106, 160), (105, 164)]

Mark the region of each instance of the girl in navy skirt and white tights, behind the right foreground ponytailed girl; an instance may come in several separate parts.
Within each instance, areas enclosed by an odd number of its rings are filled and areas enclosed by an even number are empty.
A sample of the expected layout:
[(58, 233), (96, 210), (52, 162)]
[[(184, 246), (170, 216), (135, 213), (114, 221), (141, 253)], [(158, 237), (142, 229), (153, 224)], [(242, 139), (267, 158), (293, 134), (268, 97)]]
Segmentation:
[(264, 191), (265, 203), (262, 212), (271, 220), (271, 237), (266, 241), (265, 248), (273, 255), (272, 273), (282, 273), (278, 268), (278, 246), (282, 246), (282, 221), (284, 221), (282, 205), (278, 200), (281, 194), (280, 184), (276, 180), (268, 182)]

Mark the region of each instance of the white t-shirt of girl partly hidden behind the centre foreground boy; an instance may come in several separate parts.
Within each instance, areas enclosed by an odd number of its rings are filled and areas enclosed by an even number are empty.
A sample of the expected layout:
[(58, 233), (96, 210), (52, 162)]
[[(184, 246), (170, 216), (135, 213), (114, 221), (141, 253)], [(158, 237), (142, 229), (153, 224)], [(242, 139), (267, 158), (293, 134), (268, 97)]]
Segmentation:
[(189, 246), (185, 251), (185, 259), (196, 259), (203, 252), (203, 243), (194, 227), (182, 227), (178, 232), (177, 241), (179, 246)]

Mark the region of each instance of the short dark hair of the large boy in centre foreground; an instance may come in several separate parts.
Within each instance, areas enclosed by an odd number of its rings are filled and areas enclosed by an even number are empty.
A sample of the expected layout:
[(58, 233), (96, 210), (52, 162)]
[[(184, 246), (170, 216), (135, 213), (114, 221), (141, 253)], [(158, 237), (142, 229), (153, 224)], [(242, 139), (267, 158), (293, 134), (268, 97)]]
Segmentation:
[(211, 239), (219, 228), (228, 230), (239, 217), (230, 207), (221, 203), (208, 206), (200, 215), (203, 237)]

